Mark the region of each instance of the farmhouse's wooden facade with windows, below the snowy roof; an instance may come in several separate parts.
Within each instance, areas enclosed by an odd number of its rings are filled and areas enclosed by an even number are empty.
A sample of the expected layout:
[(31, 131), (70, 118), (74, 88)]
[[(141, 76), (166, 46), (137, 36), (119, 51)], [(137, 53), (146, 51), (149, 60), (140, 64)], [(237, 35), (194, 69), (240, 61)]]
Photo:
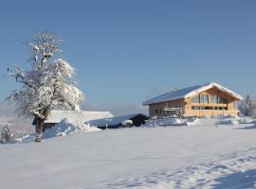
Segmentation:
[(189, 97), (148, 104), (149, 116), (237, 116), (236, 104), (240, 99), (213, 86)]

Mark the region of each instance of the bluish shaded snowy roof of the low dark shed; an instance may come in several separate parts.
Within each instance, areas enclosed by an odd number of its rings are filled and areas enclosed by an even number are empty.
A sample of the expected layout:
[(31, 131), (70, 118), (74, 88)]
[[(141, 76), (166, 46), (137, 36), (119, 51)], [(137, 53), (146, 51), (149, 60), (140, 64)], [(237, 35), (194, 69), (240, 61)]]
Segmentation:
[(126, 120), (131, 120), (137, 117), (138, 115), (145, 116), (145, 118), (148, 118), (148, 116), (142, 113), (135, 113), (135, 114), (128, 114), (128, 115), (122, 115), (117, 117), (109, 117), (106, 119), (91, 120), (88, 123), (91, 126), (96, 126), (96, 127), (118, 126), (121, 124), (121, 122)]

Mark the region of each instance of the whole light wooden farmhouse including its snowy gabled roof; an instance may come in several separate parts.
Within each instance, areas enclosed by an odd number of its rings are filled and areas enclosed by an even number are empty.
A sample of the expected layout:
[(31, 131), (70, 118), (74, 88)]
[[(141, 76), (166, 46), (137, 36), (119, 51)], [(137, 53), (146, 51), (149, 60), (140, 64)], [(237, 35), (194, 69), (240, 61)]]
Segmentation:
[(220, 84), (211, 82), (158, 95), (143, 103), (149, 116), (238, 115), (237, 101), (243, 97)]

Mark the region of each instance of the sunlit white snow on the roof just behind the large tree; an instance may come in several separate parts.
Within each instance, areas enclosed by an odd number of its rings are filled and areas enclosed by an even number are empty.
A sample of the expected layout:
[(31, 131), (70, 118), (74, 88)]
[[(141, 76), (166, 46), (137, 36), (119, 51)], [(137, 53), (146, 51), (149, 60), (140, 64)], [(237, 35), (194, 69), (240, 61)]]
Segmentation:
[(73, 112), (73, 111), (52, 111), (46, 123), (60, 123), (66, 118), (70, 122), (88, 122), (94, 119), (113, 117), (111, 112)]

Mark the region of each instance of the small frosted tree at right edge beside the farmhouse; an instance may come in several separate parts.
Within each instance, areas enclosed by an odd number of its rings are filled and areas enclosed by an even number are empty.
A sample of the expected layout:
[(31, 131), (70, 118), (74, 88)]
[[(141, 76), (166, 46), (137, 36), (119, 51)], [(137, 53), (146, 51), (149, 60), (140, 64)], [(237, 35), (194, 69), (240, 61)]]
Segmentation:
[(246, 99), (238, 107), (245, 116), (256, 117), (256, 99), (247, 95)]

